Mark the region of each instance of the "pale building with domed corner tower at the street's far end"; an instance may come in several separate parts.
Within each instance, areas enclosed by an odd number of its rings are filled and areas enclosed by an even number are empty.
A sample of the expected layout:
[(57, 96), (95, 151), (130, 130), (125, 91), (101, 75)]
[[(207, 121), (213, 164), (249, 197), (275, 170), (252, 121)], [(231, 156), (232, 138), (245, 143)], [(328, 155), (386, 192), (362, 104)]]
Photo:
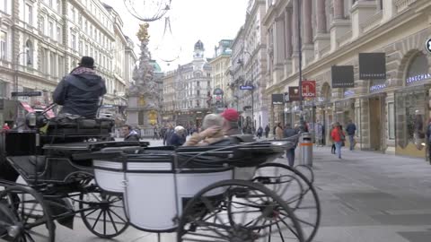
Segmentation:
[(163, 77), (163, 121), (173, 125), (200, 126), (211, 112), (211, 65), (204, 56), (204, 44), (198, 40), (193, 61), (179, 65)]

